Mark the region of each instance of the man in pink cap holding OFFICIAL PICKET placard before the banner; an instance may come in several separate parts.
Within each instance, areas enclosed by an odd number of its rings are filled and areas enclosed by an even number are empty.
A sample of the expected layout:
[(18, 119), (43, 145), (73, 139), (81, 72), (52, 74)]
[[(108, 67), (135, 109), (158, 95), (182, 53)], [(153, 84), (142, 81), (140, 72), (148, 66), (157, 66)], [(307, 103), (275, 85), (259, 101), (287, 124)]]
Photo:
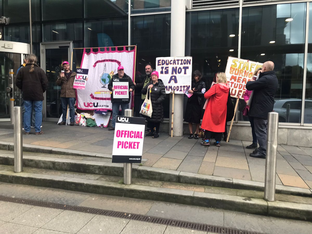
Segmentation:
[[(121, 79), (121, 78), (128, 78), (128, 82), (129, 82), (129, 91), (132, 92), (135, 88), (134, 83), (132, 81), (132, 79), (130, 78), (130, 76), (128, 76), (126, 73), (124, 73), (124, 67), (123, 66), (119, 66), (117, 68), (117, 74), (115, 74), (111, 79), (110, 79), (110, 83), (108, 84), (108, 89), (110, 91), (114, 91), (115, 89), (113, 88), (113, 80), (115, 79)], [(130, 101), (130, 96), (131, 93), (129, 92), (129, 101)], [(128, 102), (116, 102), (114, 101), (113, 98), (113, 93), (110, 95), (110, 101), (112, 102), (112, 111), (113, 111), (113, 117), (112, 117), (112, 127), (110, 127), (108, 130), (115, 130), (115, 123), (116, 123), (116, 116), (119, 112), (119, 106), (121, 106), (121, 110), (122, 110), (122, 115), (124, 115), (124, 110), (129, 108), (129, 101)]]

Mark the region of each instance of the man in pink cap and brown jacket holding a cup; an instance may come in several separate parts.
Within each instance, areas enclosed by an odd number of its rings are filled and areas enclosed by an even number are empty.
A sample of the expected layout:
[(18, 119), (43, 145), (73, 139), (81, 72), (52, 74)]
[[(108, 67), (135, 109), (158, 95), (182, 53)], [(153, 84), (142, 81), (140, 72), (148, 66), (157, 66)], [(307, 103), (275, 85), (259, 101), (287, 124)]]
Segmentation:
[(59, 123), (59, 125), (65, 125), (66, 124), (66, 115), (67, 115), (67, 106), (69, 108), (69, 117), (71, 121), (71, 126), (75, 125), (75, 98), (76, 93), (74, 90), (74, 80), (76, 76), (76, 72), (71, 71), (69, 68), (69, 62), (64, 61), (62, 63), (64, 72), (61, 72), (56, 80), (57, 85), (61, 85), (61, 103), (62, 103), (62, 111), (63, 111), (63, 117), (62, 121)]

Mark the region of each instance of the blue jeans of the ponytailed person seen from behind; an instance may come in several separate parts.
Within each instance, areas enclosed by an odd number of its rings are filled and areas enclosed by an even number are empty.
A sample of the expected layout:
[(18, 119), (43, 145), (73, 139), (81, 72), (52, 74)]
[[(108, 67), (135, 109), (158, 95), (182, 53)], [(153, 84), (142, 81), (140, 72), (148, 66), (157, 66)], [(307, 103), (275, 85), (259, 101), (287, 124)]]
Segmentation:
[(30, 132), (30, 119), (32, 115), (32, 107), (35, 109), (35, 131), (41, 132), (40, 126), (42, 122), (42, 100), (24, 100), (24, 129)]

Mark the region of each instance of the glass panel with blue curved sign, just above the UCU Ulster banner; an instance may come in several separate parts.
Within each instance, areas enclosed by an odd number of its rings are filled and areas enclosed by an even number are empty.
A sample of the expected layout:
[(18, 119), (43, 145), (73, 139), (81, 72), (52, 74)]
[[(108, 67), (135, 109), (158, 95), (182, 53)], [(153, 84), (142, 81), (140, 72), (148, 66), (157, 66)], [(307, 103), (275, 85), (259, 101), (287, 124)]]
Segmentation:
[(128, 45), (128, 17), (85, 22), (85, 47)]

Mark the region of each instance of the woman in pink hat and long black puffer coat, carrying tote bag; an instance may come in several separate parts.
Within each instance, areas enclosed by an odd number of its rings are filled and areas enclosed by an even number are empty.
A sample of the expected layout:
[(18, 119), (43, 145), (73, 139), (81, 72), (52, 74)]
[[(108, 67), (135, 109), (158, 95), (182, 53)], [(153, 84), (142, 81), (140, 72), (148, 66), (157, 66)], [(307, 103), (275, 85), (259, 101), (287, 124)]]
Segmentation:
[[(162, 80), (158, 80), (158, 71), (153, 71), (151, 81), (142, 89), (142, 94), (147, 94), (147, 98), (151, 98), (152, 102), (152, 116), (146, 117), (146, 120), (151, 126), (151, 131), (145, 136), (159, 137), (159, 125), (163, 121), (163, 105), (162, 102), (166, 98), (166, 88)], [(149, 91), (148, 91), (149, 90)]]

